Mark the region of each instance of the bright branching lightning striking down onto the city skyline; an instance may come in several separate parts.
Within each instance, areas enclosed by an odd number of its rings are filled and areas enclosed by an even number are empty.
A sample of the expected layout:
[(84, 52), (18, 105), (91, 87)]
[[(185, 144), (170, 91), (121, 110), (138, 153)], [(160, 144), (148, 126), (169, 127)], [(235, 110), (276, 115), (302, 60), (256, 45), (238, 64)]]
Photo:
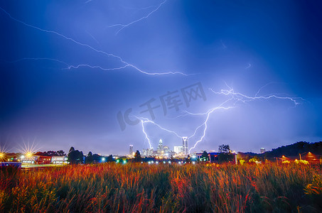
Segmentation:
[[(255, 100), (259, 100), (259, 99), (284, 99), (284, 100), (289, 100), (289, 101), (293, 102), (295, 106), (298, 105), (298, 104), (301, 104), (301, 102), (299, 102), (299, 100), (305, 101), (305, 99), (303, 99), (301, 97), (280, 97), (280, 96), (277, 96), (276, 94), (269, 94), (267, 96), (257, 96), (259, 94), (259, 92), (264, 87), (267, 87), (267, 85), (273, 84), (273, 83), (274, 82), (271, 82), (271, 83), (268, 83), (268, 84), (264, 85), (263, 87), (260, 87), (254, 97), (247, 96), (246, 94), (242, 94), (240, 92), (235, 92), (232, 87), (228, 86), (225, 83), (226, 86), (228, 87), (228, 89), (221, 89), (220, 92), (215, 92), (213, 89), (210, 89), (210, 91), (213, 92), (214, 94), (220, 94), (220, 95), (224, 95), (224, 96), (229, 96), (228, 99), (226, 99), (224, 102), (219, 104), (217, 107), (213, 107), (213, 108), (211, 108), (208, 111), (205, 111), (203, 113), (191, 113), (191, 112), (188, 112), (188, 111), (184, 111), (185, 112), (184, 114), (181, 114), (180, 116), (177, 116), (176, 118), (183, 117), (183, 116), (205, 116), (205, 120), (203, 121), (203, 123), (200, 124), (199, 126), (197, 126), (195, 128), (195, 130), (193, 131), (193, 133), (190, 136), (188, 136), (188, 139), (193, 138), (194, 136), (196, 136), (198, 131), (203, 128), (201, 136), (199, 136), (198, 137), (199, 139), (197, 141), (195, 141), (194, 146), (192, 146), (189, 149), (189, 153), (190, 153), (191, 150), (193, 150), (195, 148), (195, 146), (198, 145), (198, 143), (203, 141), (203, 139), (205, 138), (205, 134), (206, 134), (207, 129), (208, 129), (208, 121), (210, 119), (210, 115), (213, 114), (214, 111), (218, 111), (220, 109), (221, 110), (233, 109), (233, 108), (236, 107), (236, 102), (246, 103), (246, 102), (251, 102), (251, 101), (255, 101)], [(225, 106), (225, 105), (228, 105), (228, 106)], [(146, 136), (146, 139), (149, 141), (150, 148), (152, 147), (151, 146), (151, 140), (149, 139), (148, 133), (146, 133), (146, 131), (144, 129), (144, 124), (154, 124), (155, 126), (159, 127), (159, 129), (161, 129), (163, 131), (167, 131), (168, 133), (173, 133), (178, 138), (182, 138), (180, 133), (177, 133), (176, 131), (173, 131), (173, 130), (166, 129), (163, 126), (161, 126), (160, 124), (157, 124), (154, 121), (151, 121), (149, 119), (142, 118), (142, 117), (137, 117), (137, 116), (135, 116), (135, 117), (136, 117), (136, 119), (141, 120), (142, 131), (144, 132), (144, 135)]]

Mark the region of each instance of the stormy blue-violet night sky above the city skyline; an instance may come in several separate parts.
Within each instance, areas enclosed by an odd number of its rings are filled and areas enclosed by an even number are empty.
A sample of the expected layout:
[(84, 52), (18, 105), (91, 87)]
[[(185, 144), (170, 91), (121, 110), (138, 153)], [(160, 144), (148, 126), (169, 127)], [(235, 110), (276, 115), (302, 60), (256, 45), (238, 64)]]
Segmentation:
[[(130, 119), (151, 119), (139, 106), (153, 98), (151, 106), (160, 105), (154, 121), (191, 136), (205, 122), (205, 112), (230, 98), (210, 91), (228, 89), (225, 82), (247, 97), (267, 84), (257, 96), (295, 97), (299, 104), (274, 97), (233, 99), (224, 107), (234, 108), (209, 115), (203, 138), (205, 126), (189, 138), (190, 147), (203, 139), (191, 151), (225, 143), (258, 152), (321, 141), (320, 1), (162, 3), (1, 1), (1, 146), (18, 151), (23, 141), (35, 141), (41, 151), (74, 146), (102, 154), (128, 153), (129, 144), (148, 148), (141, 123), (124, 123), (122, 131), (117, 114), (132, 108)], [(205, 100), (187, 107), (181, 89), (199, 82)], [(181, 105), (165, 115), (160, 97), (167, 92), (175, 92)], [(144, 126), (151, 146), (159, 138), (171, 149), (181, 145), (175, 134)]]

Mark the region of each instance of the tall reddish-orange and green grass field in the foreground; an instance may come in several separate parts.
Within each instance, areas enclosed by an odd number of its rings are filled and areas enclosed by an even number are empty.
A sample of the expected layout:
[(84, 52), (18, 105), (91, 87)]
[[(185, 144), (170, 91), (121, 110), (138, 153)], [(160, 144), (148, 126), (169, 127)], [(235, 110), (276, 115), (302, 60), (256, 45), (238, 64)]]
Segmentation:
[(322, 212), (319, 165), (104, 163), (0, 179), (0, 212)]

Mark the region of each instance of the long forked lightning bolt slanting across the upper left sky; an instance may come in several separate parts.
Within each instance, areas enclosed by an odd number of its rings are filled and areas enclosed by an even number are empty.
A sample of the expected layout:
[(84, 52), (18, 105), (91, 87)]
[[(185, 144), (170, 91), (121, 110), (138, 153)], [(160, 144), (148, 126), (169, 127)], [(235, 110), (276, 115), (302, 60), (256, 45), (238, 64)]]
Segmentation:
[[(164, 2), (163, 2), (162, 4), (164, 4)], [(160, 7), (160, 6), (159, 6), (159, 7)], [(158, 9), (159, 9), (159, 7), (158, 7)], [(120, 56), (118, 56), (118, 55), (114, 55), (114, 54), (112, 54), (112, 53), (106, 53), (106, 52), (104, 52), (103, 50), (98, 50), (98, 49), (96, 49), (96, 48), (93, 48), (93, 47), (92, 47), (92, 46), (90, 46), (90, 45), (87, 45), (87, 44), (85, 44), (85, 43), (80, 43), (79, 41), (77, 41), (77, 40), (75, 40), (75, 39), (73, 39), (73, 38), (70, 38), (70, 37), (68, 37), (68, 36), (66, 36), (66, 35), (63, 35), (63, 34), (61, 34), (61, 33), (58, 33), (58, 32), (56, 32), (56, 31), (48, 31), (48, 30), (45, 30), (45, 29), (43, 29), (43, 28), (38, 28), (37, 26), (33, 26), (33, 25), (31, 25), (31, 24), (28, 24), (28, 23), (25, 23), (25, 22), (23, 22), (23, 21), (20, 21), (20, 20), (18, 20), (17, 18), (14, 18), (13, 16), (11, 16), (11, 14), (10, 14), (10, 13), (8, 13), (6, 10), (2, 9), (1, 7), (0, 7), (0, 10), (1, 10), (1, 11), (4, 11), (4, 13), (6, 13), (6, 15), (7, 15), (7, 16), (9, 16), (9, 18), (11, 18), (11, 19), (12, 19), (12, 20), (14, 20), (14, 21), (17, 21), (18, 23), (23, 24), (24, 26), (28, 26), (28, 27), (30, 27), (30, 28), (34, 28), (34, 29), (36, 29), (36, 30), (38, 30), (38, 31), (42, 31), (42, 32), (45, 32), (45, 33), (51, 33), (51, 34), (58, 35), (59, 37), (64, 38), (64, 39), (66, 39), (66, 40), (70, 40), (71, 42), (76, 43), (77, 45), (81, 45), (81, 46), (83, 46), (83, 47), (85, 47), (85, 48), (89, 48), (90, 50), (93, 50), (93, 51), (95, 51), (96, 53), (100, 53), (100, 54), (106, 55), (107, 57), (116, 58), (117, 60), (119, 60), (120, 62), (122, 62), (122, 63), (124, 64), (123, 66), (120, 66), (120, 67), (114, 67), (114, 68), (109, 68), (109, 69), (107, 69), (107, 68), (103, 68), (103, 67), (100, 67), (100, 66), (92, 66), (92, 65), (76, 65), (76, 66), (69, 66), (69, 68), (71, 68), (71, 67), (73, 67), (73, 68), (78, 68), (78, 67), (84, 67), (84, 66), (86, 66), (86, 67), (91, 67), (91, 68), (99, 68), (99, 69), (101, 69), (101, 70), (121, 70), (121, 69), (124, 69), (125, 67), (132, 67), (132, 68), (134, 68), (134, 70), (139, 71), (139, 72), (141, 72), (141, 73), (143, 73), (143, 74), (146, 74), (146, 75), (169, 75), (169, 74), (180, 74), (180, 75), (186, 75), (186, 74), (184, 74), (183, 72), (146, 72), (146, 71), (144, 71), (144, 70), (139, 69), (139, 67), (136, 67), (135, 65), (132, 65), (131, 63), (124, 61), (124, 60), (123, 60)], [(137, 21), (135, 21), (135, 22), (137, 22)], [(28, 59), (29, 59), (29, 60), (31, 60), (31, 58), (28, 58)], [(34, 58), (34, 59), (35, 59), (35, 60), (41, 60), (41, 59), (44, 59), (44, 58)], [(46, 59), (46, 60), (48, 60), (48, 58), (45, 58), (45, 59)], [(56, 61), (61, 62), (60, 60), (56, 60)], [(65, 63), (65, 62), (63, 62), (63, 63)], [(65, 64), (67, 64), (67, 63), (65, 63)]]

